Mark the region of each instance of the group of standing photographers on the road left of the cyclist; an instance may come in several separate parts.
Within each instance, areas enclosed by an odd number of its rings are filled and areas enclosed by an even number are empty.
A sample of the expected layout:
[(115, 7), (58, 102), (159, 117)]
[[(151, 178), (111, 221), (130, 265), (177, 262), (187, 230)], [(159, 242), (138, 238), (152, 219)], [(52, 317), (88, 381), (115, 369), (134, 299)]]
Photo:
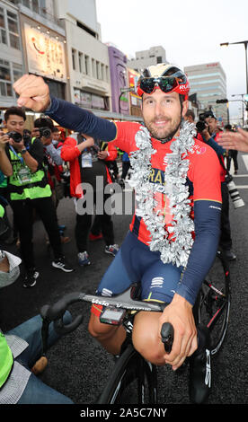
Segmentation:
[[(25, 268), (23, 286), (33, 287), (40, 275), (33, 251), (33, 223), (37, 218), (44, 224), (45, 242), (53, 251), (52, 267), (68, 273), (74, 270), (63, 252), (63, 244), (71, 239), (65, 235), (65, 224), (58, 221), (58, 204), (63, 198), (75, 200), (75, 243), (80, 266), (91, 263), (89, 236), (91, 240), (103, 239), (107, 254), (115, 256), (119, 251), (114, 241), (111, 210), (106, 212), (103, 207), (101, 213), (94, 207), (88, 212), (89, 195), (84, 187), (88, 184), (92, 187), (93, 206), (99, 189), (105, 203), (111, 195), (104, 193), (105, 185), (120, 181), (116, 163), (120, 152), (99, 139), (86, 140), (78, 133), (66, 136), (66, 129), (57, 127), (47, 116), (35, 119), (30, 130), (25, 126), (22, 108), (5, 111), (0, 129), (0, 204), (10, 229), (4, 242), (15, 242), (20, 249)], [(103, 184), (99, 188), (100, 176)], [(80, 199), (84, 209), (78, 211)]]

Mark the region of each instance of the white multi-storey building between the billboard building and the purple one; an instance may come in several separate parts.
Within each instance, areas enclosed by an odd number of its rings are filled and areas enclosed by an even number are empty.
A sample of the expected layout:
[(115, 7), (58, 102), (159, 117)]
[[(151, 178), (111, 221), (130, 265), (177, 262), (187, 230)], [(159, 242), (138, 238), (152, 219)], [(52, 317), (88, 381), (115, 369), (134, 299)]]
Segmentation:
[(101, 41), (95, 0), (55, 0), (65, 24), (71, 101), (91, 110), (111, 110), (108, 47)]

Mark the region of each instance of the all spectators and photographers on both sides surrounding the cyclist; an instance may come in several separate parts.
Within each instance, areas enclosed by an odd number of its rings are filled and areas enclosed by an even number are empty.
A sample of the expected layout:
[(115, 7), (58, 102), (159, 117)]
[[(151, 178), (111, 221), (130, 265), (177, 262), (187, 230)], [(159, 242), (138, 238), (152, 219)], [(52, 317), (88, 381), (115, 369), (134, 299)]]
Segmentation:
[[(194, 123), (192, 110), (188, 110), (185, 119)], [(227, 259), (233, 260), (236, 257), (232, 250), (226, 173), (230, 170), (232, 159), (237, 173), (237, 152), (226, 154), (218, 144), (221, 129), (217, 127), (217, 119), (212, 112), (205, 113), (202, 122), (202, 125), (197, 125), (197, 137), (216, 151), (222, 172), (223, 205), (219, 249), (226, 253)], [(79, 266), (91, 264), (89, 239), (103, 239), (103, 251), (107, 254), (115, 256), (119, 251), (119, 245), (115, 243), (111, 210), (106, 207), (99, 210), (96, 196), (101, 191), (103, 204), (110, 204), (111, 193), (105, 192), (106, 185), (117, 181), (122, 188), (125, 187), (130, 167), (128, 154), (118, 151), (111, 143), (106, 145), (91, 136), (80, 133), (68, 133), (66, 136), (66, 129), (55, 126), (47, 116), (41, 115), (35, 119), (30, 130), (25, 128), (25, 123), (26, 114), (22, 108), (12, 107), (5, 111), (0, 130), (0, 288), (13, 283), (20, 275), (21, 259), (4, 251), (3, 245), (10, 242), (15, 242), (20, 250), (24, 266), (22, 286), (28, 288), (36, 285), (40, 276), (33, 248), (33, 223), (36, 218), (42, 221), (46, 242), (53, 251), (51, 266), (66, 273), (74, 271), (63, 252), (63, 244), (71, 239), (65, 236), (66, 226), (63, 221), (58, 222), (57, 213), (58, 204), (66, 197), (75, 203), (75, 244)], [(225, 127), (226, 132), (231, 130), (231, 127)], [(121, 177), (117, 165), (118, 154), (122, 163)], [(99, 178), (102, 178), (102, 184), (98, 183)], [(92, 200), (88, 196), (87, 187), (91, 188)], [(8, 207), (12, 209), (11, 222)], [(68, 312), (65, 318), (70, 321)], [(5, 335), (0, 330), (4, 365), (11, 374), (8, 378), (0, 371), (0, 403), (72, 403), (35, 376), (42, 347), (40, 329), (40, 316), (36, 316)], [(19, 338), (17, 342), (16, 338)], [(49, 346), (57, 340), (58, 335), (51, 325)]]

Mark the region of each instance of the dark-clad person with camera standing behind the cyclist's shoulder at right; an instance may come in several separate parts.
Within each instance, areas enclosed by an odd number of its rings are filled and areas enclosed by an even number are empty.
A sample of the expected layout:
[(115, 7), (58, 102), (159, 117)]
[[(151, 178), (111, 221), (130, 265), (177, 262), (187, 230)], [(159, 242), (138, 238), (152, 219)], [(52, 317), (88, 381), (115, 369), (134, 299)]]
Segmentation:
[(219, 239), (219, 247), (225, 252), (226, 258), (235, 260), (236, 256), (232, 251), (231, 225), (229, 221), (229, 191), (226, 183), (226, 168), (224, 164), (225, 149), (217, 144), (219, 133), (217, 132), (217, 118), (212, 110), (208, 110), (199, 115), (199, 122), (196, 124), (199, 134), (203, 141), (210, 145), (217, 153), (221, 165), (221, 194), (222, 194), (222, 211), (221, 211), (221, 233)]

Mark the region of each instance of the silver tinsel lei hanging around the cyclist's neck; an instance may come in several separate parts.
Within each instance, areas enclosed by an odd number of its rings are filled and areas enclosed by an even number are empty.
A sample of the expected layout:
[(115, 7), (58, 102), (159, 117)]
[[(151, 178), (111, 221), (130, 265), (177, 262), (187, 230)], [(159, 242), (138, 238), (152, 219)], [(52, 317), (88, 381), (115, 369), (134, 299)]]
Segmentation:
[[(156, 150), (146, 127), (140, 126), (137, 131), (135, 139), (138, 149), (130, 154), (132, 170), (129, 184), (136, 192), (136, 215), (143, 218), (151, 233), (150, 251), (160, 251), (164, 263), (172, 262), (177, 267), (187, 266), (193, 244), (194, 223), (190, 218), (189, 188), (186, 186), (190, 161), (186, 157), (195, 144), (194, 136), (195, 126), (183, 121), (180, 135), (170, 145), (172, 153), (164, 155), (164, 185), (149, 181), (151, 158)], [(167, 226), (164, 215), (155, 212), (157, 191), (166, 195), (173, 208), (173, 221)]]

